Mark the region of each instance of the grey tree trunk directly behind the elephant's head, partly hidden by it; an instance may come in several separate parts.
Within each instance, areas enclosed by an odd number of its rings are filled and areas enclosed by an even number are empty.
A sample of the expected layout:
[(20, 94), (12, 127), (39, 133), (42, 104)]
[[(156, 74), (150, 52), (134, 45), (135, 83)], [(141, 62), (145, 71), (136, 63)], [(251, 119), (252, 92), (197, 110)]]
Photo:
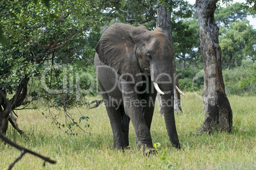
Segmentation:
[[(171, 0), (167, 1), (169, 4), (172, 4)], [(171, 12), (168, 12), (166, 9), (166, 4), (161, 4), (157, 9), (157, 27), (160, 27), (164, 33), (166, 33), (171, 41), (171, 45), (173, 45), (173, 36), (171, 35)], [(178, 79), (176, 73), (176, 66), (173, 58), (173, 66), (174, 66), (174, 81), (176, 81), (176, 85), (178, 86)], [(174, 82), (175, 85), (175, 82)], [(175, 87), (175, 86), (174, 86)], [(178, 86), (179, 87), (179, 86)], [(157, 93), (157, 99), (159, 101), (159, 112), (162, 114), (162, 99), (160, 99), (159, 93)], [(181, 104), (180, 104), (180, 94), (174, 90), (174, 111), (178, 113), (181, 111)]]

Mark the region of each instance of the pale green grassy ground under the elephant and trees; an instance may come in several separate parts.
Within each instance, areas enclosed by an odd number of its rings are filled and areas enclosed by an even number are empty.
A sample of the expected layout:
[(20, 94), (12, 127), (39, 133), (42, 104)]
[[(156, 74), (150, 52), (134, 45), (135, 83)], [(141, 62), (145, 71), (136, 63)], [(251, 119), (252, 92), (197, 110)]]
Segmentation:
[[(171, 147), (164, 118), (155, 110), (152, 122), (153, 143), (160, 143), (158, 153), (149, 157), (136, 150), (131, 125), (131, 149), (113, 151), (110, 122), (104, 106), (94, 110), (80, 108), (89, 119), (86, 134), (77, 129), (77, 136), (69, 136), (57, 129), (40, 110), (18, 111), (18, 124), (25, 131), (20, 136), (11, 127), (8, 137), (19, 145), (57, 160), (47, 164), (32, 155), (25, 155), (14, 169), (256, 169), (256, 97), (230, 96), (233, 111), (233, 132), (197, 135), (204, 120), (203, 101), (193, 93), (182, 96), (183, 113), (176, 115), (181, 150)], [(57, 112), (57, 111), (56, 111)], [(78, 114), (78, 110), (71, 110)], [(74, 116), (75, 117), (75, 116)], [(78, 116), (80, 117), (80, 116)], [(0, 144), (0, 169), (7, 169), (20, 152)]]

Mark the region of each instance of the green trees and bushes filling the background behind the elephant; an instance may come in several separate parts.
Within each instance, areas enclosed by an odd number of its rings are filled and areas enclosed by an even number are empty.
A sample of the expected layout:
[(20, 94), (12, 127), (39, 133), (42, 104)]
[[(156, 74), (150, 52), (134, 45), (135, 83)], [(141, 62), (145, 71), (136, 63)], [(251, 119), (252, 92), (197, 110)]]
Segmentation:
[[(155, 29), (161, 3), (167, 1), (0, 1), (1, 90), (11, 100), (18, 87), (28, 87), (22, 104), (41, 101), (62, 111), (88, 104), (86, 97), (98, 92), (93, 62), (101, 34), (115, 22)], [(172, 12), (180, 89), (201, 91), (204, 73), (196, 12), (183, 0), (167, 3), (167, 10)], [(256, 31), (246, 20), (248, 13), (252, 8), (239, 3), (215, 12), (228, 95), (255, 95)]]

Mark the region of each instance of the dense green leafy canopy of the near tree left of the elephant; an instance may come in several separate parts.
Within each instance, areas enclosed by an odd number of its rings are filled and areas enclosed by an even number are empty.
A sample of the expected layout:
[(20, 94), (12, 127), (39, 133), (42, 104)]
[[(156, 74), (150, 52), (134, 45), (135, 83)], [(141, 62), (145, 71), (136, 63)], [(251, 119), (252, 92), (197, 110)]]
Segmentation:
[[(66, 65), (60, 68), (57, 64), (74, 64), (78, 59), (86, 59), (87, 66), (92, 64), (94, 50), (92, 46), (85, 48), (88, 41), (85, 37), (103, 22), (97, 18), (101, 12), (92, 8), (94, 5), (85, 1), (50, 1), (47, 8), (41, 2), (0, 2), (1, 31), (7, 41), (0, 46), (0, 90), (11, 97), (12, 110), (39, 97), (45, 98), (47, 105), (54, 101), (64, 111), (79, 101), (75, 89), (67, 91), (67, 82), (60, 80), (60, 71), (68, 73)], [(49, 66), (50, 71), (46, 71)], [(76, 78), (78, 73), (76, 70)], [(46, 79), (46, 88), (42, 78)], [(48, 92), (52, 89), (59, 92)], [(32, 98), (27, 99), (27, 94)], [(6, 110), (3, 100), (1, 106), (1, 111)]]

